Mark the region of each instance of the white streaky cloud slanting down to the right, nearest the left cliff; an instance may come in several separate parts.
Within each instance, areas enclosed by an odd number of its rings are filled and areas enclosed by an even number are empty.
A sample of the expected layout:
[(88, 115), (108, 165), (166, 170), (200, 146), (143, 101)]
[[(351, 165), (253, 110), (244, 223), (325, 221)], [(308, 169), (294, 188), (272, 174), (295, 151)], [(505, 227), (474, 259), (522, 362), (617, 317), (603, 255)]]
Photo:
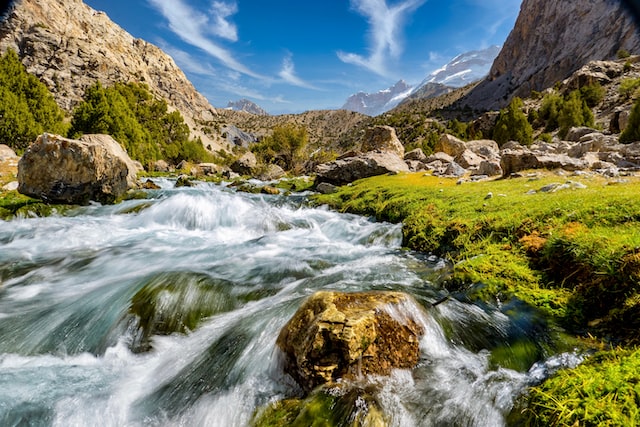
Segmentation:
[[(217, 58), (226, 67), (254, 78), (263, 78), (236, 60), (232, 53), (219, 46), (212, 37), (237, 40), (236, 27), (227, 18), (237, 12), (235, 3), (214, 2), (212, 17), (193, 9), (184, 0), (148, 0), (169, 22), (169, 29), (184, 42)], [(213, 21), (213, 22), (212, 22)], [(221, 25), (222, 24), (222, 25)]]

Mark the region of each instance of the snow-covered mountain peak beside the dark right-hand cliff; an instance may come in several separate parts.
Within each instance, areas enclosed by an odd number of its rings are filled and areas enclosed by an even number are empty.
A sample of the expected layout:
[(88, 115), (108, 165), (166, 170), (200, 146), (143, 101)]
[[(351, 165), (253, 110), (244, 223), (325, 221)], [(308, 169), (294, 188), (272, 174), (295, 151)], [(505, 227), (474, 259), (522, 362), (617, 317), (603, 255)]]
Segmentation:
[(429, 74), (418, 87), (428, 83), (462, 87), (477, 80), (482, 80), (489, 74), (491, 65), (498, 53), (500, 53), (500, 46), (491, 46), (486, 49), (460, 54), (442, 68)]

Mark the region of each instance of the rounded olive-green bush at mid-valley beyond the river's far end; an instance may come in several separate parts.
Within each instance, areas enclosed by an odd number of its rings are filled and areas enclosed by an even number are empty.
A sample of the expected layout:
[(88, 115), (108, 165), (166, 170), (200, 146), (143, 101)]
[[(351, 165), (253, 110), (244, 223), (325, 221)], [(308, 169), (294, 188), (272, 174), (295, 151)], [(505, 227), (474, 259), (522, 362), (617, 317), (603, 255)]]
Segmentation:
[(275, 163), (286, 171), (301, 172), (308, 158), (305, 152), (308, 143), (305, 127), (288, 124), (273, 128), (272, 134), (254, 144), (251, 151), (263, 164)]

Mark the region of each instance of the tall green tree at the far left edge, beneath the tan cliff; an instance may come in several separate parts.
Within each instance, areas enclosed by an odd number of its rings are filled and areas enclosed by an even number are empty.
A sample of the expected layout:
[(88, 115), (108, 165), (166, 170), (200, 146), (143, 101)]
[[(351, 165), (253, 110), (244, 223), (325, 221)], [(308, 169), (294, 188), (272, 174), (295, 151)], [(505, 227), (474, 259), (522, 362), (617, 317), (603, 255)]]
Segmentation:
[(41, 133), (64, 135), (67, 128), (47, 87), (8, 49), (0, 57), (0, 144), (21, 153)]

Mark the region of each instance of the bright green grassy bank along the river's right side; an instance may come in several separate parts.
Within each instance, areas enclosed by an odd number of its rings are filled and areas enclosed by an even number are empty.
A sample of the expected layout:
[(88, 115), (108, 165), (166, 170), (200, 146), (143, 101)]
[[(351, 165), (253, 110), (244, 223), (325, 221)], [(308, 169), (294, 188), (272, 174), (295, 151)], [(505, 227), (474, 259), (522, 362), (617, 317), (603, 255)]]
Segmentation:
[[(469, 298), (485, 301), (517, 297), (576, 335), (632, 349), (638, 344), (640, 325), (638, 194), (640, 179), (635, 177), (547, 172), (458, 185), (456, 180), (418, 173), (362, 180), (316, 201), (345, 212), (402, 221), (405, 246), (453, 262), (445, 283), (450, 291), (465, 291)], [(629, 413), (628, 399), (616, 403), (616, 390), (629, 387), (624, 366), (639, 365), (640, 354), (624, 351), (624, 357), (613, 357), (613, 362), (602, 358), (608, 363), (604, 381), (609, 392), (579, 392), (577, 399), (587, 405), (609, 393), (611, 404), (598, 418), (583, 422), (579, 411), (560, 409), (576, 396), (558, 376), (545, 383), (549, 389), (530, 394), (527, 407), (537, 412), (527, 413), (526, 425), (549, 425), (550, 419), (552, 425), (632, 425), (605, 422)], [(601, 376), (604, 362), (598, 360), (575, 372)], [(571, 378), (574, 373), (562, 375)], [(640, 373), (632, 376), (640, 381)], [(640, 403), (640, 393), (635, 399)], [(553, 415), (538, 417), (540, 408)], [(626, 419), (640, 422), (637, 414), (630, 416)]]

